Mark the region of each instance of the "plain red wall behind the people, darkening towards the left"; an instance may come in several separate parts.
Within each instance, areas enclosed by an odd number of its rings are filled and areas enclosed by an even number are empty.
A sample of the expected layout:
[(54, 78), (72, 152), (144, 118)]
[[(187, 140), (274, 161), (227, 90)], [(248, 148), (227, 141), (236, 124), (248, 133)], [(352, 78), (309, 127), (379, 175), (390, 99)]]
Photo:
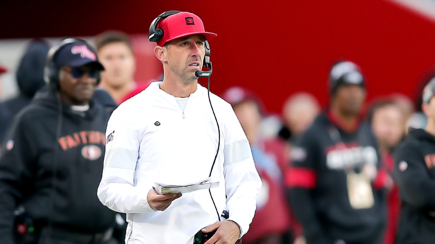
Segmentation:
[(435, 22), (387, 0), (2, 0), (0, 9), (0, 38), (147, 33), (164, 11), (196, 13), (218, 33), (210, 41), (211, 91), (253, 89), (271, 112), (299, 91), (325, 104), (336, 59), (362, 67), (368, 99), (391, 92), (413, 98), (435, 64)]

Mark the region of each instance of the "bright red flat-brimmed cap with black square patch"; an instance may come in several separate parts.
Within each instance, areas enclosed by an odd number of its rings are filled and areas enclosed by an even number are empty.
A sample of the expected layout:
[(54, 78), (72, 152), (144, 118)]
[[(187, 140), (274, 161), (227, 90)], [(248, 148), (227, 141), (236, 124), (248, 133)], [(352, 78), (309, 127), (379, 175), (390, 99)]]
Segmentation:
[(163, 46), (165, 43), (183, 36), (201, 34), (205, 40), (218, 36), (215, 33), (205, 32), (202, 20), (189, 12), (168, 16), (157, 25), (157, 28), (162, 29), (164, 32), (163, 38), (157, 41), (158, 46)]

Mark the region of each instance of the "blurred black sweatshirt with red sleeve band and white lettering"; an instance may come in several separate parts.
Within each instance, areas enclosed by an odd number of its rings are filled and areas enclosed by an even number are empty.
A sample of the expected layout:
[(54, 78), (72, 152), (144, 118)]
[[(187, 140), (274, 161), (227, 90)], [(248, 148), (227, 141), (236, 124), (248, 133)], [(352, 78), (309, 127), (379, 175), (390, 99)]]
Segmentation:
[[(379, 169), (375, 137), (366, 122), (351, 132), (342, 128), (331, 112), (318, 115), (295, 143), (294, 161), (285, 173), (288, 200), (307, 244), (371, 244), (383, 234), (387, 174)], [(372, 205), (352, 206), (349, 174), (364, 174)]]

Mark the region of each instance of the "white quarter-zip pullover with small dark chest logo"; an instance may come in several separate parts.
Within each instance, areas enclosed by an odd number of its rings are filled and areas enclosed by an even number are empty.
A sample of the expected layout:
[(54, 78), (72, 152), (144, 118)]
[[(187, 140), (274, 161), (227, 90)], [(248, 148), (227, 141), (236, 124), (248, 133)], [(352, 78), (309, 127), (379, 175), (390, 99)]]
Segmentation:
[(221, 143), (211, 180), (220, 186), (211, 188), (211, 194), (218, 213), (208, 190), (185, 193), (165, 211), (149, 206), (147, 193), (154, 182), (179, 185), (207, 178), (219, 140), (207, 89), (198, 84), (183, 112), (160, 83), (151, 83), (110, 117), (98, 198), (127, 213), (127, 244), (191, 244), (194, 234), (217, 222), (224, 209), (245, 234), (261, 180), (231, 105), (214, 94)]

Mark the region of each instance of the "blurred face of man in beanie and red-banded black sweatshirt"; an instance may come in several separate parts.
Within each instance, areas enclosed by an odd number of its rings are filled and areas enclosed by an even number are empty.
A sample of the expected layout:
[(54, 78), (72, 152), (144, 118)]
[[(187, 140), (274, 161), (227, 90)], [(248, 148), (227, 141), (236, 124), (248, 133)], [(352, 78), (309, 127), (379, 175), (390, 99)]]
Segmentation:
[(333, 100), (344, 115), (356, 116), (364, 103), (365, 89), (353, 84), (341, 85), (335, 92)]

